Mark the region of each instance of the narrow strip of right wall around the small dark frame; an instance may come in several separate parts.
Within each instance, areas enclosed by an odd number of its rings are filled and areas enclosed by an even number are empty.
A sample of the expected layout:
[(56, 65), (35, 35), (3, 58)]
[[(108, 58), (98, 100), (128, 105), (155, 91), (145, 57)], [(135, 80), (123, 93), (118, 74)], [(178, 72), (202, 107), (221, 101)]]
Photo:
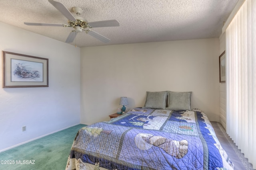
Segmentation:
[[(226, 33), (220, 37), (220, 53), (221, 55), (226, 49)], [(226, 129), (226, 83), (220, 83), (220, 123)]]

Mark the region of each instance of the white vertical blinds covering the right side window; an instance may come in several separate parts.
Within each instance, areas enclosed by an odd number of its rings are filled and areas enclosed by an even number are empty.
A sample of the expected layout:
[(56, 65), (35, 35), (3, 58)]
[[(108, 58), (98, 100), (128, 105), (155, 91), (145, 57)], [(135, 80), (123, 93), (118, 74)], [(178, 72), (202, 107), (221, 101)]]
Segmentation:
[(256, 0), (226, 29), (226, 129), (256, 169)]

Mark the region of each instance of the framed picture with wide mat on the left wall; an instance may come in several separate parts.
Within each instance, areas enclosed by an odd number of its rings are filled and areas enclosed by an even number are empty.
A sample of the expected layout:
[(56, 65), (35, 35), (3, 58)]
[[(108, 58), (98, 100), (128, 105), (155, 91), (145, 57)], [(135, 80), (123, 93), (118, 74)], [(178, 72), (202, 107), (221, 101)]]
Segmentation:
[(48, 87), (48, 59), (2, 51), (3, 88)]

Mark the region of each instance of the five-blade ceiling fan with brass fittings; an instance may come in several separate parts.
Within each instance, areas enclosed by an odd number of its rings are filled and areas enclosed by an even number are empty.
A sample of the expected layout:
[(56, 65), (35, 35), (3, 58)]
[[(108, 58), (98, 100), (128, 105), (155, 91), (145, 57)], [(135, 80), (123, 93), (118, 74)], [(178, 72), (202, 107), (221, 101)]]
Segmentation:
[(73, 7), (72, 10), (77, 14), (77, 16), (73, 16), (70, 11), (60, 2), (56, 2), (54, 0), (48, 0), (57, 10), (59, 10), (67, 19), (68, 24), (60, 24), (60, 23), (30, 23), (24, 22), (26, 25), (39, 25), (39, 26), (57, 26), (57, 27), (73, 27), (74, 30), (70, 32), (68, 38), (66, 39), (66, 43), (72, 43), (76, 38), (77, 33), (82, 32), (83, 30), (92, 35), (96, 39), (103, 41), (104, 43), (108, 43), (110, 39), (96, 33), (87, 28), (95, 28), (95, 27), (116, 27), (119, 26), (119, 22), (117, 20), (106, 20), (106, 21), (95, 21), (89, 22), (79, 15), (83, 13), (83, 10), (79, 7)]

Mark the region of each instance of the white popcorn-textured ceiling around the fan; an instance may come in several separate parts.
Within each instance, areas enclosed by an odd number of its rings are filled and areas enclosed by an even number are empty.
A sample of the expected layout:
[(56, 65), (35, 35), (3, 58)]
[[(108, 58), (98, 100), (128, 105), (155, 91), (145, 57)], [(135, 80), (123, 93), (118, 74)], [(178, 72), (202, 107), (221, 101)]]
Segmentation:
[[(89, 47), (183, 39), (215, 38), (221, 35), (238, 0), (56, 0), (72, 12), (78, 6), (88, 22), (118, 20), (119, 27), (92, 28), (111, 39), (103, 43), (79, 33), (72, 45)], [(71, 27), (28, 26), (24, 22), (62, 23), (67, 19), (48, 0), (0, 0), (0, 21), (34, 33), (66, 41)]]

